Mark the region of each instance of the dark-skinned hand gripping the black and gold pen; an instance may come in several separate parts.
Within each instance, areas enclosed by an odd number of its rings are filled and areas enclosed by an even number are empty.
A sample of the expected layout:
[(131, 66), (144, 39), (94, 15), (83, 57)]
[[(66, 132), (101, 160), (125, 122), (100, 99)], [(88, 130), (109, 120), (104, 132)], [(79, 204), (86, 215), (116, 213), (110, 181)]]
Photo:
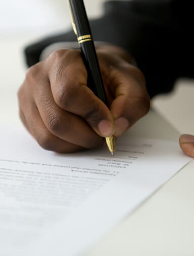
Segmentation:
[(58, 50), (30, 67), (18, 91), (20, 117), (46, 150), (71, 153), (99, 147), (146, 115), (150, 99), (142, 72), (123, 49), (98, 50), (109, 108), (87, 87), (79, 50)]

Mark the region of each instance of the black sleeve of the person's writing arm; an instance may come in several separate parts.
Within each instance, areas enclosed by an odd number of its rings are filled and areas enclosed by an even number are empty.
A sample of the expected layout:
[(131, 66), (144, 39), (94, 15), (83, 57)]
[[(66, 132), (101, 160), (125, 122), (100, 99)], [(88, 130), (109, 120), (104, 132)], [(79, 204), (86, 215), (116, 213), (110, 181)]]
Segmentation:
[[(128, 50), (144, 73), (153, 97), (171, 91), (178, 78), (193, 77), (193, 15), (189, 10), (189, 0), (107, 2), (104, 15), (90, 21), (93, 39)], [(28, 46), (27, 64), (38, 62), (45, 47), (68, 41), (76, 41), (72, 30)]]

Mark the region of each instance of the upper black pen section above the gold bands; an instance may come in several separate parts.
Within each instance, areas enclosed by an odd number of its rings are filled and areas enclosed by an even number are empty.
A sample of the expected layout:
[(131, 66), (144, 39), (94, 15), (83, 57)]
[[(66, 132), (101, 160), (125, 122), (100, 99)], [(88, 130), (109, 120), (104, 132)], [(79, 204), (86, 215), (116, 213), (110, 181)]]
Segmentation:
[(69, 0), (70, 8), (72, 11), (73, 19), (76, 25), (77, 36), (86, 34), (91, 35), (89, 22), (87, 19), (85, 6), (82, 0)]

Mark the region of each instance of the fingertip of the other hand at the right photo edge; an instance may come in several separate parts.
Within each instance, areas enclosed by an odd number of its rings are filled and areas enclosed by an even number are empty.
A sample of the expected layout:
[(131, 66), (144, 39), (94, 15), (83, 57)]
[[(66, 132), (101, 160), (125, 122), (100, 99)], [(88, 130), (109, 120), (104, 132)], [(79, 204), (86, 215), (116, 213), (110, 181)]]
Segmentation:
[(182, 134), (179, 138), (179, 144), (182, 151), (189, 157), (194, 158), (194, 136)]

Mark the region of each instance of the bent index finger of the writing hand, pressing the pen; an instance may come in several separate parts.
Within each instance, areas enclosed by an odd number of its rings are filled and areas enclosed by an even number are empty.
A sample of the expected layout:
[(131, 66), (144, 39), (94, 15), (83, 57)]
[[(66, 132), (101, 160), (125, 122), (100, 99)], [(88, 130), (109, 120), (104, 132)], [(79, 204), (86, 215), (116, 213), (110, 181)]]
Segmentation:
[(65, 55), (58, 52), (57, 58), (60, 58), (60, 67), (49, 73), (57, 105), (66, 112), (81, 117), (100, 136), (111, 136), (114, 133), (112, 114), (87, 87), (87, 71), (80, 52), (68, 51)]

